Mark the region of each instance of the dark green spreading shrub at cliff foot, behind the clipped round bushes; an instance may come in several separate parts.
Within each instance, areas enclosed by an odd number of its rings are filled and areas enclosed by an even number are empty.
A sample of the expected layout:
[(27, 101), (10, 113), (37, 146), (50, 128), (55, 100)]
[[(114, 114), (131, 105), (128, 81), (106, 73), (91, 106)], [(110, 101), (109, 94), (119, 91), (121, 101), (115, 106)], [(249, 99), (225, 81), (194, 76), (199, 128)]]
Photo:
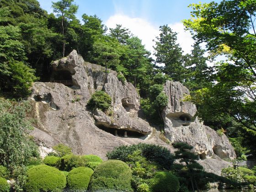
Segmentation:
[(132, 155), (136, 150), (141, 151), (141, 155), (149, 161), (154, 161), (165, 169), (170, 169), (173, 164), (173, 155), (162, 146), (155, 144), (133, 144), (130, 146), (120, 146), (107, 153), (108, 159), (123, 160), (129, 162), (128, 155)]

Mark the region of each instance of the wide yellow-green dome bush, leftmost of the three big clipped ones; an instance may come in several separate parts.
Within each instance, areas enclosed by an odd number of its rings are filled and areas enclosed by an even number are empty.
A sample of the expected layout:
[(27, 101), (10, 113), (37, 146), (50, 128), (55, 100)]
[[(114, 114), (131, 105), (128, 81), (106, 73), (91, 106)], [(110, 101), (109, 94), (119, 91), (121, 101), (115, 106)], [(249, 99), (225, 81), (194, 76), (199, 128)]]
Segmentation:
[(25, 189), (28, 192), (62, 191), (66, 176), (62, 171), (48, 165), (36, 165), (27, 171)]

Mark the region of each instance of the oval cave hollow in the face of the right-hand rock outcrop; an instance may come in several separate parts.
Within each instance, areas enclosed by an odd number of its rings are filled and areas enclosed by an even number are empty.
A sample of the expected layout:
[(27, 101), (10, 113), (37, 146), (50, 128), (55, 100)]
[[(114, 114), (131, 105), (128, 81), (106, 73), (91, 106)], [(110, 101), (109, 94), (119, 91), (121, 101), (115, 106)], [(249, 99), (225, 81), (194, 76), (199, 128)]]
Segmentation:
[(171, 119), (173, 127), (188, 126), (193, 122), (193, 117), (184, 112), (169, 113), (167, 117)]

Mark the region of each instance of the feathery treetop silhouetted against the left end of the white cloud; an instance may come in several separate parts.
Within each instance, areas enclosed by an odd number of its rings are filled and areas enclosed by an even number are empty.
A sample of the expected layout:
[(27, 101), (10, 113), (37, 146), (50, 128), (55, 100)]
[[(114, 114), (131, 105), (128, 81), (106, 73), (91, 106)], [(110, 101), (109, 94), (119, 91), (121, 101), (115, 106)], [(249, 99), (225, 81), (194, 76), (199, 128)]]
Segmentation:
[(131, 32), (129, 29), (122, 27), (122, 25), (116, 25), (116, 28), (110, 28), (110, 36), (117, 39), (119, 43), (126, 44)]

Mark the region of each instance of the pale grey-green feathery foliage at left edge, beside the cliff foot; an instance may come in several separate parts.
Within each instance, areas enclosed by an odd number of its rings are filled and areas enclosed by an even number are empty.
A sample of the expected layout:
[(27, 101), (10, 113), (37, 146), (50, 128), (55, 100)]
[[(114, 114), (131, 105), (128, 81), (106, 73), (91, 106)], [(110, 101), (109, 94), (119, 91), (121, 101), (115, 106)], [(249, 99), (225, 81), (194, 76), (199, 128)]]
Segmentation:
[(0, 99), (0, 165), (10, 171), (16, 166), (28, 165), (31, 158), (39, 158), (34, 141), (28, 136), (32, 129), (28, 101)]

